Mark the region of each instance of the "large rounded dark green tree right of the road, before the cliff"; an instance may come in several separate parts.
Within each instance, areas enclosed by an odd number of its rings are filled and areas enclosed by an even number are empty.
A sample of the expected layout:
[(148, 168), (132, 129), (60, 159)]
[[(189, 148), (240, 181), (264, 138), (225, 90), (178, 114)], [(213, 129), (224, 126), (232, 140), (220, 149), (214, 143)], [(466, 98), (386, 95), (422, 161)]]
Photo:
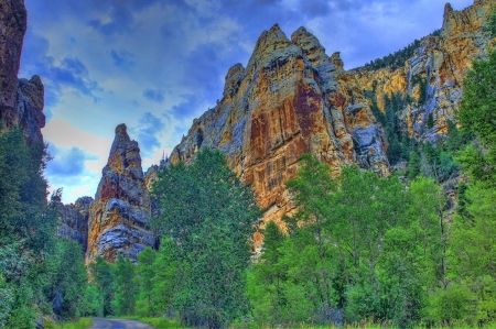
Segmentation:
[(183, 279), (174, 307), (186, 325), (227, 326), (248, 309), (246, 267), (259, 216), (252, 193), (208, 149), (158, 177), (152, 193), (162, 215), (153, 226), (175, 244)]

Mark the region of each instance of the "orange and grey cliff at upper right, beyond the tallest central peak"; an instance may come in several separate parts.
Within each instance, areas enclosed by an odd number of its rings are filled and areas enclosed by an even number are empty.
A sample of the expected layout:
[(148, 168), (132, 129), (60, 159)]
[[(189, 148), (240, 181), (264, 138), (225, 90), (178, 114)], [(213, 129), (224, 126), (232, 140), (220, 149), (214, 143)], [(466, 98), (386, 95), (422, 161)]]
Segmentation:
[[(448, 132), (448, 120), (455, 122), (454, 111), (460, 106), (463, 77), (471, 63), (485, 58), (494, 43), (483, 31), (494, 6), (492, 0), (475, 0), (473, 6), (455, 11), (448, 3), (440, 36), (421, 40), (421, 46), (405, 67), (396, 70), (359, 68), (351, 73), (364, 89), (375, 90), (382, 110), (385, 95), (408, 95), (413, 101), (400, 114), (405, 128), (418, 139), (434, 141)], [(422, 98), (424, 101), (420, 103)], [(432, 128), (427, 127), (430, 114), (434, 119)]]

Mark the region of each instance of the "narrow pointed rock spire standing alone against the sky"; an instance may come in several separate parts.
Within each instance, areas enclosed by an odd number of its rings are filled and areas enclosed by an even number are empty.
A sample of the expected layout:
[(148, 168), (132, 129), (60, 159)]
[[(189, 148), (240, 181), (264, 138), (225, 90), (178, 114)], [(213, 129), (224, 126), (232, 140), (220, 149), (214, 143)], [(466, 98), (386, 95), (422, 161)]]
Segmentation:
[(125, 124), (119, 124), (89, 207), (87, 262), (97, 255), (114, 262), (118, 253), (136, 262), (144, 246), (154, 244), (147, 224), (150, 211), (138, 142), (130, 140)]

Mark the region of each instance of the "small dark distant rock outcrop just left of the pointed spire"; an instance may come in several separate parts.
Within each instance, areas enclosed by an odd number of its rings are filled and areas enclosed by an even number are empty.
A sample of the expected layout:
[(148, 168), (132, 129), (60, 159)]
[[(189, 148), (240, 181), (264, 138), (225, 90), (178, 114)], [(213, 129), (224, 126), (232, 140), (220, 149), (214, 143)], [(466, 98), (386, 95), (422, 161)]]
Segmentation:
[(57, 235), (76, 241), (82, 245), (83, 253), (88, 246), (88, 219), (91, 197), (82, 197), (75, 204), (58, 202)]

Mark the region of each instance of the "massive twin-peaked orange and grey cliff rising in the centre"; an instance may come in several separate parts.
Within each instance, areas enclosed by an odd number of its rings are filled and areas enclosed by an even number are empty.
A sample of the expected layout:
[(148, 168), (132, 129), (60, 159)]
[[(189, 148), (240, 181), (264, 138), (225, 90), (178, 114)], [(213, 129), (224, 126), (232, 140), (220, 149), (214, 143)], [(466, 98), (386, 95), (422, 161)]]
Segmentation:
[(384, 134), (362, 87), (343, 72), (339, 54), (327, 56), (303, 28), (291, 40), (278, 25), (265, 31), (247, 67), (228, 70), (223, 98), (194, 120), (168, 163), (188, 162), (203, 146), (227, 155), (254, 188), (266, 221), (293, 210), (284, 183), (302, 153), (315, 154), (336, 174), (351, 163), (389, 171)]

